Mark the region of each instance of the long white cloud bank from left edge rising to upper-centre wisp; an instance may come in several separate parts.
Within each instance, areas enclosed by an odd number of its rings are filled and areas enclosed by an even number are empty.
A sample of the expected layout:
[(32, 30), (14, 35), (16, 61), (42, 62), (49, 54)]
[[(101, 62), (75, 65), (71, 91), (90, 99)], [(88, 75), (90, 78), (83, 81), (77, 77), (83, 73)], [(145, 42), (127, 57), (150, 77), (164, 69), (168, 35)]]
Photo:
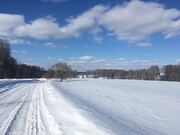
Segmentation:
[(53, 17), (38, 18), (26, 23), (22, 15), (0, 14), (0, 36), (35, 39), (78, 37), (84, 30), (89, 30), (97, 24), (96, 18), (104, 10), (103, 6), (95, 6), (75, 18), (67, 19), (67, 24), (61, 27)]

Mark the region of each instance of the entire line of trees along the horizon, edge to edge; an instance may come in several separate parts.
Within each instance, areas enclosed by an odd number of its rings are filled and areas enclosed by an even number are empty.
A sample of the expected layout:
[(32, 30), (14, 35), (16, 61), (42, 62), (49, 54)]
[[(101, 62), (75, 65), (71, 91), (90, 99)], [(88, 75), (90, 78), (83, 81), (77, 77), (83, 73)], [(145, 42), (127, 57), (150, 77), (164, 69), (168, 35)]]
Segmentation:
[(11, 48), (8, 41), (0, 39), (0, 79), (41, 77), (60, 78), (61, 81), (71, 77), (180, 81), (180, 64), (165, 65), (161, 71), (159, 66), (154, 65), (148, 69), (97, 69), (87, 72), (77, 72), (73, 71), (71, 66), (66, 63), (57, 63), (52, 65), (48, 70), (45, 70), (39, 66), (18, 63), (11, 56)]

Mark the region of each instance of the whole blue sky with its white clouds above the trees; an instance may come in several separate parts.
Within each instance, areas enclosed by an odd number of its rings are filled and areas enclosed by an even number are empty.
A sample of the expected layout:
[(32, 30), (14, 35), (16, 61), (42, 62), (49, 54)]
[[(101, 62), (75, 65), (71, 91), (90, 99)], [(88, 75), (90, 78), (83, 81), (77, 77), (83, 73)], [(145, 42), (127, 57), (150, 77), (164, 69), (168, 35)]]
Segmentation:
[(178, 0), (2, 0), (0, 38), (21, 63), (76, 70), (180, 62)]

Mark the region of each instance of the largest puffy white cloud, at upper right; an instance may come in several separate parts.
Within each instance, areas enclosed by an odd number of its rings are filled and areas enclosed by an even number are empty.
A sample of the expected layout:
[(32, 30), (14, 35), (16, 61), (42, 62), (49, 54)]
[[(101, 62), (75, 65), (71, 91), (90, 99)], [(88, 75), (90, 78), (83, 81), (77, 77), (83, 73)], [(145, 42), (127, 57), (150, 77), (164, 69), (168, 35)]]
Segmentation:
[(154, 2), (132, 0), (110, 8), (99, 21), (119, 40), (137, 42), (154, 33), (167, 35), (168, 31), (174, 32), (171, 27), (177, 22), (174, 19), (178, 17), (179, 10), (165, 9), (163, 5)]

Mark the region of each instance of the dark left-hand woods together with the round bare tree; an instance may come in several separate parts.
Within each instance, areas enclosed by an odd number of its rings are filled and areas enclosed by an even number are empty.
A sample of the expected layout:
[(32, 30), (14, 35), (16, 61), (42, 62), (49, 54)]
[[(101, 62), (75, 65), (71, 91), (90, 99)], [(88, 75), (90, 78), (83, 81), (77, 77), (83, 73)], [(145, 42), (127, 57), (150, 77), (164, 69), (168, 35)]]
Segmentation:
[(76, 72), (66, 63), (57, 63), (48, 70), (39, 66), (19, 64), (11, 56), (10, 45), (0, 39), (0, 79), (6, 78), (60, 78), (76, 77)]

